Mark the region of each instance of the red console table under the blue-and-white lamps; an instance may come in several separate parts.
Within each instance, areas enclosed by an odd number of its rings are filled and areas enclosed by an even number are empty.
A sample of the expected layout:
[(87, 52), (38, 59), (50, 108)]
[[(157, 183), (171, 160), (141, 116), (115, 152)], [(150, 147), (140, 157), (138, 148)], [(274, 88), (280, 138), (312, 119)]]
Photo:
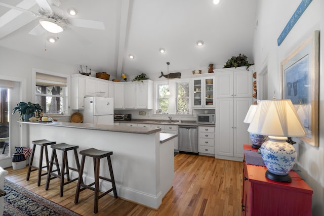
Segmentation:
[[(244, 150), (256, 151), (251, 145), (244, 145)], [(242, 215), (311, 216), (313, 190), (297, 172), (290, 171), (291, 183), (281, 183), (267, 179), (266, 170), (244, 162)]]

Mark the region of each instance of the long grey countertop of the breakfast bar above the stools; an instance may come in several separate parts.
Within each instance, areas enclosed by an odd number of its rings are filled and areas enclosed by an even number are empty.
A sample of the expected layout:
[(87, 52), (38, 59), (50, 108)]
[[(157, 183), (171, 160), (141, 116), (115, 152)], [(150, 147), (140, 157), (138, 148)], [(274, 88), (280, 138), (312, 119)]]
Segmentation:
[(153, 134), (161, 131), (161, 128), (146, 128), (146, 127), (129, 127), (123, 125), (104, 125), (104, 124), (91, 124), (91, 123), (73, 123), (62, 121), (18, 121), (25, 124), (42, 124), (44, 126), (59, 126), (59, 127), (72, 127), (80, 129), (93, 129), (97, 131), (111, 131), (111, 132), (123, 132), (133, 134)]

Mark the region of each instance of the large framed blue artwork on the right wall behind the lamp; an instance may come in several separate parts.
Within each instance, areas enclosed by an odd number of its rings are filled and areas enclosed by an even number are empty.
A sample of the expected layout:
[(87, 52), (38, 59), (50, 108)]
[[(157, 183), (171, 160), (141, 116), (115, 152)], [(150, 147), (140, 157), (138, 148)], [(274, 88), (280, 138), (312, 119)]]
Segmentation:
[(314, 31), (281, 62), (281, 94), (294, 104), (307, 132), (299, 138), (318, 146), (319, 31)]

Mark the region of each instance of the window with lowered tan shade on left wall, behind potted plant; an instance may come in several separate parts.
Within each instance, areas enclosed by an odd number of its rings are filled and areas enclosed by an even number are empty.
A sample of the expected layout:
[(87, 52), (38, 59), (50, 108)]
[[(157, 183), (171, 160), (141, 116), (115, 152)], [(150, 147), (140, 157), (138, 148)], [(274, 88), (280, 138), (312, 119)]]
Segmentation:
[(63, 114), (66, 111), (66, 78), (46, 73), (35, 74), (36, 103), (44, 113)]

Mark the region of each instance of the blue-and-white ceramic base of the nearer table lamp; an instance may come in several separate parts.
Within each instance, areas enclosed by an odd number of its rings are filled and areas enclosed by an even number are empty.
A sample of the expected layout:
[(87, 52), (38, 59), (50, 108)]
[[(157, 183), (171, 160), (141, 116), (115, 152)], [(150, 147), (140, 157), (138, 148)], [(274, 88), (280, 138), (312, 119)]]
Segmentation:
[(268, 168), (266, 177), (277, 182), (291, 182), (289, 176), (293, 168), (297, 152), (293, 145), (286, 142), (287, 137), (268, 137), (261, 145), (261, 157)]

